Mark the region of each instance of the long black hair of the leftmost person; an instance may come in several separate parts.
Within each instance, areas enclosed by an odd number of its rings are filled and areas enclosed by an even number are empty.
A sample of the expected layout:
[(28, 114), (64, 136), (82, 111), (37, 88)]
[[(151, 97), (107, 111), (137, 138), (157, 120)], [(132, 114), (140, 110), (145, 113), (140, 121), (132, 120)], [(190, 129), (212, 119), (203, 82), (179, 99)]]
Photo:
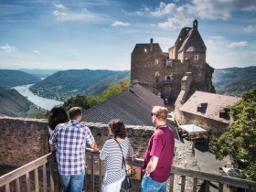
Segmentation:
[(48, 115), (48, 126), (54, 130), (59, 123), (68, 122), (68, 115), (63, 106), (55, 106), (51, 109)]

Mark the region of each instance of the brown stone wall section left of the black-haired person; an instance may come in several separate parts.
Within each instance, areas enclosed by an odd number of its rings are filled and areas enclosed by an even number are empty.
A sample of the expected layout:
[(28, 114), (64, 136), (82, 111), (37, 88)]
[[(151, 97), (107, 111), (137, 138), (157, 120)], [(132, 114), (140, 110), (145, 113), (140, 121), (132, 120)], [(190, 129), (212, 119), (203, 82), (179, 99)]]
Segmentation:
[(0, 117), (0, 165), (25, 165), (48, 153), (45, 120)]

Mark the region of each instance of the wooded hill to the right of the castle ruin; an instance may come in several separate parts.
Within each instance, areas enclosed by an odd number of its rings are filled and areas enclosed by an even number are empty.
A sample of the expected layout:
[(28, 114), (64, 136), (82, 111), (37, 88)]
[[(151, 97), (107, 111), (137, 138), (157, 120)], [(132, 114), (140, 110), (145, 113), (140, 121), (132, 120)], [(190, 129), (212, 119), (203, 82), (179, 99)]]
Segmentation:
[(215, 69), (212, 82), (217, 93), (240, 96), (256, 86), (256, 67)]

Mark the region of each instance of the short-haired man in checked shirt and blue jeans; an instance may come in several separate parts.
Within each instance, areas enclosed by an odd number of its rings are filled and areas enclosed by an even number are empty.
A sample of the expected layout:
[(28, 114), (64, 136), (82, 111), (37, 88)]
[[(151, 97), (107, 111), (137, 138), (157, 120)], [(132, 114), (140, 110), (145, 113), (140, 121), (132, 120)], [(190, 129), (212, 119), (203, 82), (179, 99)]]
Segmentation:
[[(80, 124), (82, 112), (79, 107), (69, 110), (69, 123), (60, 123), (49, 139), (51, 151), (56, 150), (63, 192), (80, 192), (85, 176), (86, 143), (99, 151), (87, 126)], [(56, 146), (55, 146), (56, 145)]]

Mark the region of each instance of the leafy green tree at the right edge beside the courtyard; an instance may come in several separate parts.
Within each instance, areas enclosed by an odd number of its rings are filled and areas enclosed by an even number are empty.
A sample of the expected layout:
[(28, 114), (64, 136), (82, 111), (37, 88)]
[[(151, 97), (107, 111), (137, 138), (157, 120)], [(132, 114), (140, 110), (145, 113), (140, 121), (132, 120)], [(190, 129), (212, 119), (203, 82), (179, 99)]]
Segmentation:
[(256, 88), (244, 93), (229, 110), (233, 123), (226, 133), (213, 139), (210, 150), (219, 159), (229, 155), (241, 169), (239, 177), (256, 181)]

